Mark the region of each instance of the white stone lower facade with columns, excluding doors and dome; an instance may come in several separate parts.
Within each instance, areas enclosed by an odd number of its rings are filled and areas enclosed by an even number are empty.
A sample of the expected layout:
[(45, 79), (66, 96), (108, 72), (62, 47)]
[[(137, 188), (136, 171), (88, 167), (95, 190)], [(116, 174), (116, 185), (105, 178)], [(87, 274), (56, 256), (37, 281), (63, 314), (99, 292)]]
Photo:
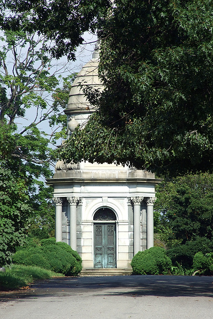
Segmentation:
[[(130, 268), (135, 253), (153, 246), (157, 180), (152, 173), (113, 164), (83, 166), (58, 170), (49, 180), (54, 185), (56, 240), (77, 250), (84, 268), (93, 268), (94, 224), (115, 224), (115, 267)], [(114, 212), (116, 219), (94, 221), (103, 208)]]

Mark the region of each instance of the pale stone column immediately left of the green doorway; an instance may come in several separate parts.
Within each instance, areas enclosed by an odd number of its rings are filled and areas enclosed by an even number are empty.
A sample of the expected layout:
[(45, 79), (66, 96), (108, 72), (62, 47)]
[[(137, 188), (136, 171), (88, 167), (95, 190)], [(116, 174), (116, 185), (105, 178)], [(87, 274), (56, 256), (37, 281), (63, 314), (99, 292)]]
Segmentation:
[(79, 197), (67, 197), (70, 206), (70, 246), (73, 250), (77, 248), (77, 217), (76, 206)]

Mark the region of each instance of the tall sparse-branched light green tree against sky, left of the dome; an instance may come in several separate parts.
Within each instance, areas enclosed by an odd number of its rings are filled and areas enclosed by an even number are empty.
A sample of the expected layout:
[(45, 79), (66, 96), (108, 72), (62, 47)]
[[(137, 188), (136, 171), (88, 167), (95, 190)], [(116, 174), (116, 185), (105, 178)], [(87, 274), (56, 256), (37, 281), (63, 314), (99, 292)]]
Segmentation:
[[(11, 260), (31, 228), (54, 229), (52, 188), (42, 178), (52, 175), (51, 145), (65, 137), (64, 96), (58, 67), (44, 51), (45, 37), (23, 31), (1, 33), (0, 47), (0, 251)], [(61, 68), (61, 67), (60, 67)], [(61, 80), (66, 91), (69, 75)], [(68, 100), (68, 94), (67, 94)], [(30, 113), (28, 112), (30, 110)], [(27, 113), (28, 112), (28, 113)], [(25, 126), (21, 124), (25, 121)], [(44, 123), (52, 129), (45, 132)], [(61, 130), (62, 129), (62, 130)]]

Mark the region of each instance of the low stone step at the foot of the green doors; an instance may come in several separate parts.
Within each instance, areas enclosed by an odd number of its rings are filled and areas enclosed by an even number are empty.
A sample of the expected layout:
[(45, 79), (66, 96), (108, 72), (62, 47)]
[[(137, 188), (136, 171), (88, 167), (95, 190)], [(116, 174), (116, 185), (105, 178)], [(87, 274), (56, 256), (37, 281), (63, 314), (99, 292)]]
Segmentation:
[(127, 276), (132, 274), (132, 268), (84, 268), (80, 276)]

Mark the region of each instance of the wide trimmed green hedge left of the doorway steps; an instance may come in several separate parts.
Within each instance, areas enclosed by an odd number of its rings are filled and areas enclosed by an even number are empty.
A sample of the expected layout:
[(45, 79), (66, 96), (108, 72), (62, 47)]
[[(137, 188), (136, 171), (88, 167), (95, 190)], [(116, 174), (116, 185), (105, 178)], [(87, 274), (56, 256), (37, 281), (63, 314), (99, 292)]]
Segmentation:
[(65, 276), (76, 276), (82, 269), (82, 260), (78, 253), (67, 245), (55, 241), (55, 238), (42, 239), (40, 246), (31, 244), (14, 254), (14, 264), (38, 266)]

